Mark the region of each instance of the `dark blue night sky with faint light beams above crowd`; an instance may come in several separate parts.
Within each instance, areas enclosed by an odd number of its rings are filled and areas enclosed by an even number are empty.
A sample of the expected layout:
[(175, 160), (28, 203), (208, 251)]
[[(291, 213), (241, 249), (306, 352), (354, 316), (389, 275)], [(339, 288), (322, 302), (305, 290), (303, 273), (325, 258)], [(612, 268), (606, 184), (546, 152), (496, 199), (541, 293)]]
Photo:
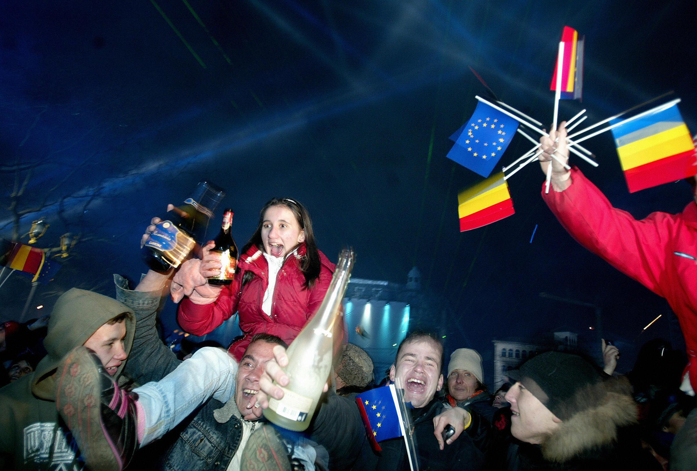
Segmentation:
[[(240, 247), (263, 203), (291, 196), (332, 261), (355, 247), (356, 277), (403, 283), (418, 266), (468, 332), (453, 329), (448, 348), (592, 325), (592, 309), (541, 292), (600, 305), (608, 337), (633, 341), (658, 314), (637, 345), (675, 336), (664, 300), (565, 233), (539, 196), (537, 164), (510, 180), (515, 215), (459, 233), (457, 193), (481, 177), (445, 155), (482, 93), (470, 66), (501, 100), (551, 122), (565, 24), (586, 36), (585, 80), (583, 102), (562, 102), (561, 118), (585, 107), (594, 123), (673, 90), (697, 132), (696, 10), (694, 1), (6, 1), (0, 235), (13, 236), (10, 195), (28, 178), (17, 208), (45, 206), (22, 217), (20, 235), (45, 216), (38, 247), (68, 231), (83, 239), (33, 304), (51, 307), (72, 286), (113, 295), (112, 273), (144, 270), (148, 220), (208, 179), (227, 190)], [(501, 162), (529, 147), (516, 137)], [(690, 201), (683, 182), (629, 194), (610, 133), (587, 147), (600, 166), (572, 162), (615, 206), (645, 217)], [(0, 320), (19, 317), (29, 288), (22, 277), (0, 288)]]

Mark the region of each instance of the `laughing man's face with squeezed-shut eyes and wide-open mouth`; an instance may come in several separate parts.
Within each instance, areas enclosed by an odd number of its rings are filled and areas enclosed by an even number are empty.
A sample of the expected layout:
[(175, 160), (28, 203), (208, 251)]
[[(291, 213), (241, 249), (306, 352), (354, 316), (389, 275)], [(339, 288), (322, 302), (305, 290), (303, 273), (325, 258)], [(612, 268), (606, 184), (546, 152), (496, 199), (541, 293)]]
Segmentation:
[(404, 401), (415, 408), (426, 406), (443, 387), (443, 348), (429, 337), (404, 343), (390, 368), (390, 380), (404, 387)]

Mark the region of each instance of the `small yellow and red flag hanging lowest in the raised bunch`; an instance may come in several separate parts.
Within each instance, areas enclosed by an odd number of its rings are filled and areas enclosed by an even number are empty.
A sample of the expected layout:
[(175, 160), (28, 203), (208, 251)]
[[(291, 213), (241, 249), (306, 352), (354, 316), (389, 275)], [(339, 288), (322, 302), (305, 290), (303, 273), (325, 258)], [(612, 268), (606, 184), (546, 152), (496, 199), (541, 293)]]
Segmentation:
[(460, 232), (486, 226), (515, 213), (503, 172), (457, 195)]

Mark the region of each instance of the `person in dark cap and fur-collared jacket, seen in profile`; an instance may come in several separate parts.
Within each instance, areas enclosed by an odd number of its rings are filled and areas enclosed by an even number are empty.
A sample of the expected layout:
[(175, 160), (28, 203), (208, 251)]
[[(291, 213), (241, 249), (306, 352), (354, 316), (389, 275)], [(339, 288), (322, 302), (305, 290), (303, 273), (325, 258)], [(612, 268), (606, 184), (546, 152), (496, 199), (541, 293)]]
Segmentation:
[(611, 378), (578, 355), (547, 352), (507, 375), (516, 383), (512, 442), (500, 469), (660, 470), (636, 435), (636, 405), (623, 378)]

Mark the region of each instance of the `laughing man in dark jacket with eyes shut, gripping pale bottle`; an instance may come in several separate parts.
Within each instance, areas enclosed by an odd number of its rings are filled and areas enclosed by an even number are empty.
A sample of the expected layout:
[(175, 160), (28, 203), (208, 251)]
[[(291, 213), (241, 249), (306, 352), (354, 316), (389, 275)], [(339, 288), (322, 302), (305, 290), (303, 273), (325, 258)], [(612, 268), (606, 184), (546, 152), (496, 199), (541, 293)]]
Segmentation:
[[(261, 408), (268, 407), (269, 397), (282, 399), (282, 387), (287, 387), (290, 383), (283, 369), (289, 363), (286, 350), (275, 346), (273, 353), (275, 360), (266, 364), (266, 373), (259, 380), (259, 394), (254, 398)], [(486, 428), (486, 424), (476, 413), (467, 414), (464, 419), (466, 422), (462, 419), (450, 422), (456, 434), (448, 440), (449, 446), (445, 449), (441, 449), (441, 440), (434, 433), (434, 425), (437, 426), (438, 435), (445, 426), (441, 415), (443, 403), (436, 399), (436, 392), (443, 386), (442, 365), (443, 344), (438, 337), (425, 332), (413, 332), (399, 345), (395, 363), (390, 368), (390, 380), (404, 389), (404, 401), (412, 406), (411, 422), (418, 465), (430, 470), (482, 470), (484, 454), (475, 447), (469, 435), (483, 433), (482, 427)], [(452, 410), (447, 413), (451, 412)], [(462, 417), (455, 415), (462, 412), (466, 411), (460, 409), (452, 414), (454, 417)], [(321, 402), (310, 427), (311, 440), (327, 449), (329, 469), (332, 471), (409, 469), (406, 446), (401, 438), (381, 442), (383, 451), (379, 455), (372, 450), (353, 397), (329, 394), (326, 401)], [(468, 433), (461, 434), (464, 429)], [(455, 440), (458, 435), (461, 436)], [(245, 451), (243, 465), (245, 456), (250, 453), (254, 454), (255, 450)]]

